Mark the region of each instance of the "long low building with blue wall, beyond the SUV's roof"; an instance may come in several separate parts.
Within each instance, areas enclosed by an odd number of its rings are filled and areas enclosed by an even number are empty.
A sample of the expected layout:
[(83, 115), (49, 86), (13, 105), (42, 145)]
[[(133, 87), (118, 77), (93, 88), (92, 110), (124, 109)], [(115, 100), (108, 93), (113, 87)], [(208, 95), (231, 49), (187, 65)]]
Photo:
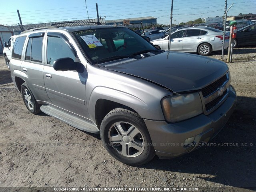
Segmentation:
[[(130, 24), (124, 24), (127, 22)], [(138, 17), (138, 18), (129, 18), (129, 19), (116, 19), (116, 20), (106, 20), (106, 25), (125, 25), (127, 27), (141, 27), (142, 25), (145, 26), (154, 26), (157, 24), (156, 18), (154, 17)]]

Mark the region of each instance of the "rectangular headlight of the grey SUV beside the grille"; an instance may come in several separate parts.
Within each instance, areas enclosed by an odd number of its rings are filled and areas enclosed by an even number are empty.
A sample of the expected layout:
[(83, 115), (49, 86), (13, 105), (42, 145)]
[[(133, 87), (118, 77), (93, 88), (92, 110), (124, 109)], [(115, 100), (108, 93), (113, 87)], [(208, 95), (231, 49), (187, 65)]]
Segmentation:
[(203, 112), (198, 93), (169, 96), (162, 99), (164, 118), (168, 122), (185, 120)]

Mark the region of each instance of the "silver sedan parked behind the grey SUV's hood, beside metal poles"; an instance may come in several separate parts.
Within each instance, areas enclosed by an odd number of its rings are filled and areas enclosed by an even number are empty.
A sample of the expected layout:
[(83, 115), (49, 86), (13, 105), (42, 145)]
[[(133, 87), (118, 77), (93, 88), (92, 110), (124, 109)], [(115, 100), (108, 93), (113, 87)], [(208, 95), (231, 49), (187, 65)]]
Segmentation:
[[(212, 51), (222, 50), (223, 32), (211, 27), (189, 27), (177, 30), (171, 36), (172, 51), (197, 52), (209, 55)], [(229, 36), (225, 37), (224, 48), (228, 47)], [(168, 50), (169, 36), (151, 41), (158, 49)]]

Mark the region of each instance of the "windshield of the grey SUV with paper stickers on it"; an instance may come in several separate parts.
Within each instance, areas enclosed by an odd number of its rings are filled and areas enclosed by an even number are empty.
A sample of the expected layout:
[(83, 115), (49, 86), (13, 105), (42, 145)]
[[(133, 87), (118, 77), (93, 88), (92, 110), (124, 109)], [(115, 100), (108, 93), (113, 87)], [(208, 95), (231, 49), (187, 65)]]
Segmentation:
[(147, 50), (159, 51), (139, 34), (124, 27), (83, 30), (73, 34), (95, 64), (107, 58), (115, 60)]

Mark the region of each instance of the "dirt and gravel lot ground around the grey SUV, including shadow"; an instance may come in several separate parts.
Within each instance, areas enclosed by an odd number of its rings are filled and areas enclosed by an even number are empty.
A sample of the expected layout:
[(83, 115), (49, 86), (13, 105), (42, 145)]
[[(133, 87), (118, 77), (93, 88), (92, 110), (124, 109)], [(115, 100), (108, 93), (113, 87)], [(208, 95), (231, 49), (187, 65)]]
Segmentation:
[[(210, 57), (220, 58), (220, 52)], [(256, 48), (228, 64), (237, 106), (210, 143), (184, 156), (132, 167), (110, 156), (100, 136), (28, 112), (0, 56), (0, 187), (226, 187), (256, 190)], [(252, 188), (250, 188), (252, 187)], [(206, 190), (208, 191), (208, 190)]]

